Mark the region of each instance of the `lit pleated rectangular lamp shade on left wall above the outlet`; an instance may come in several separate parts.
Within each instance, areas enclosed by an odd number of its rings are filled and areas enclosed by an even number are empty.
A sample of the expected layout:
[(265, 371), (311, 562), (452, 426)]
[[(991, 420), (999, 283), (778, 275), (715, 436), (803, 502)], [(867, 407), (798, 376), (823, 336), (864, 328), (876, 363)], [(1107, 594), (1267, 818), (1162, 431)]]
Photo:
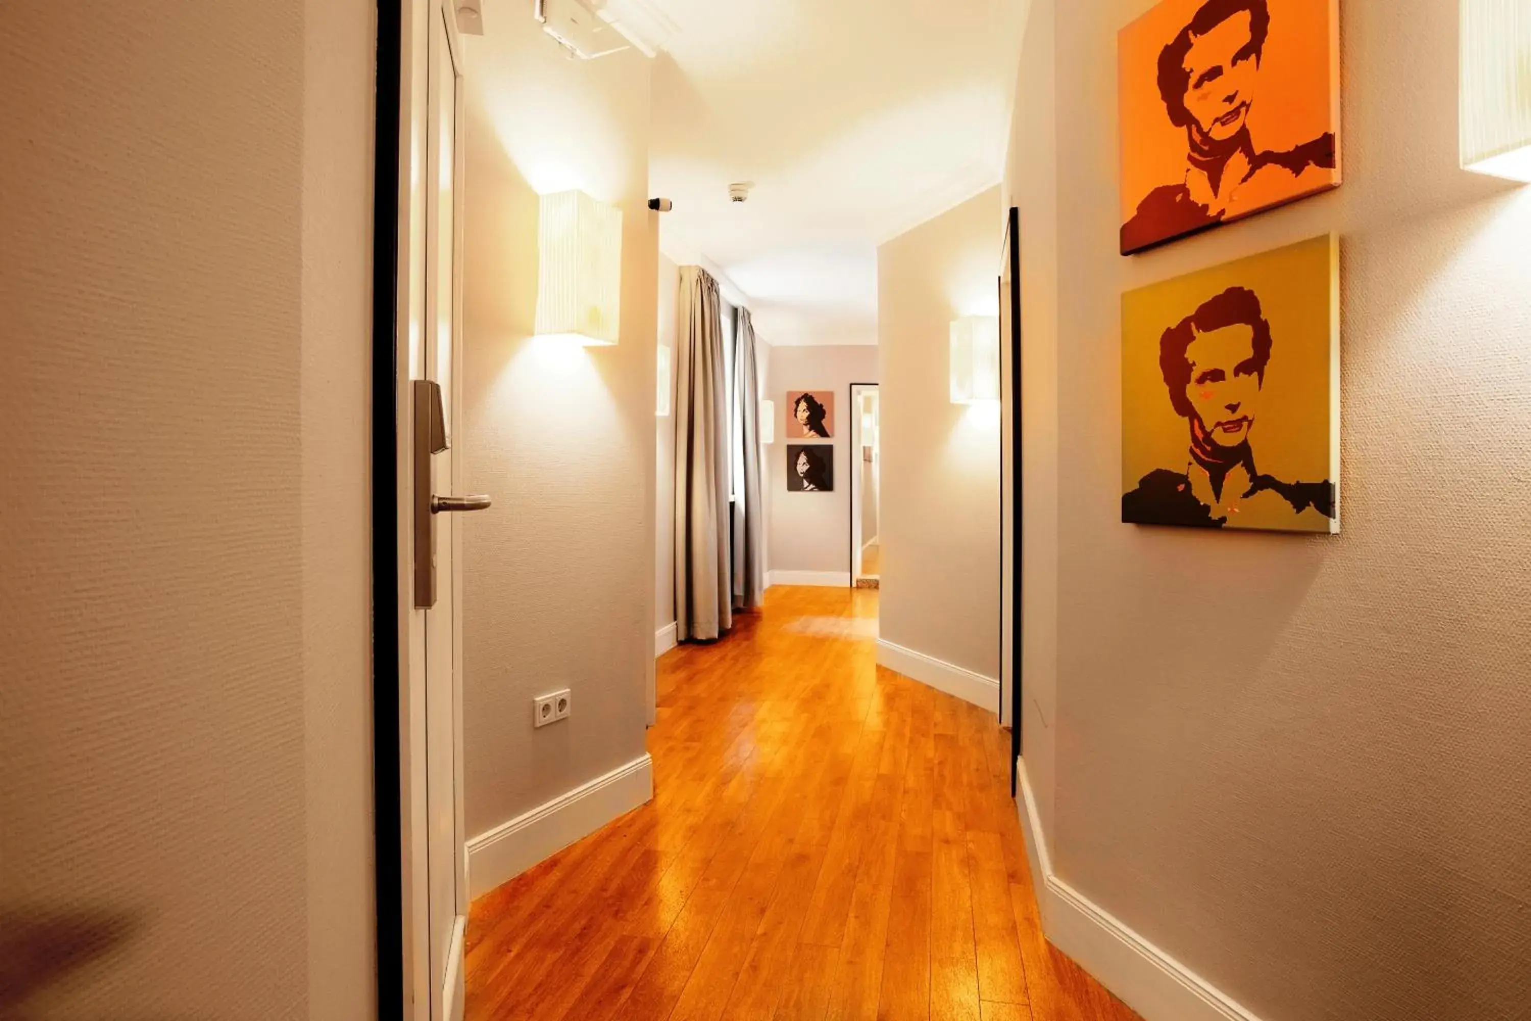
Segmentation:
[(583, 191), (540, 199), (537, 337), (614, 344), (622, 315), (622, 210)]

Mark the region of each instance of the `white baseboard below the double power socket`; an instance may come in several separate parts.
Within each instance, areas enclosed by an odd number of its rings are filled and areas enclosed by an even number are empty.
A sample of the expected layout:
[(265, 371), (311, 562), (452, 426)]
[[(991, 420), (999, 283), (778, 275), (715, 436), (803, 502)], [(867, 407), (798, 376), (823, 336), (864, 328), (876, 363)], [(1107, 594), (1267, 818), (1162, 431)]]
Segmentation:
[(645, 753), (478, 834), (468, 840), (468, 895), (487, 894), (651, 798), (654, 761)]

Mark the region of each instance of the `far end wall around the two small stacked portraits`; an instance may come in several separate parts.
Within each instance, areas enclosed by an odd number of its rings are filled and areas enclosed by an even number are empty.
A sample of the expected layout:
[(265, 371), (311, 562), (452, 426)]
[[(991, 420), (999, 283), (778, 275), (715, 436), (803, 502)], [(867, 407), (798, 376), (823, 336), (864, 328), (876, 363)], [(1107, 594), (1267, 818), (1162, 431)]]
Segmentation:
[[(767, 354), (766, 351), (761, 352)], [(776, 404), (776, 442), (761, 449), (769, 490), (767, 571), (848, 574), (851, 569), (851, 383), (877, 383), (868, 344), (770, 347), (766, 400)], [(764, 366), (761, 366), (764, 369)], [(787, 491), (787, 390), (834, 390), (834, 491)], [(845, 580), (850, 585), (850, 580)]]

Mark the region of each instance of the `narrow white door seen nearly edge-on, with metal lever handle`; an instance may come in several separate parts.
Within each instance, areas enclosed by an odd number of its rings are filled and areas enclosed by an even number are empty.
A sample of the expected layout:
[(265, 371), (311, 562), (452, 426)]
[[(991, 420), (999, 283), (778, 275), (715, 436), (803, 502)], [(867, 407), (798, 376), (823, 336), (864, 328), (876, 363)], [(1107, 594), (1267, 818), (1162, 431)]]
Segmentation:
[[(461, 488), (456, 364), (461, 352), (461, 38), (450, 8), (430, 5), (427, 60), (426, 184), (426, 344), (424, 377), (441, 387), (447, 449), (432, 455), (436, 497)], [(462, 831), (462, 678), (461, 592), (458, 571), (462, 524), (456, 513), (435, 519), (436, 602), (426, 614), (426, 869), (430, 926), (430, 1019), (462, 1016), (462, 932), (467, 876)]]

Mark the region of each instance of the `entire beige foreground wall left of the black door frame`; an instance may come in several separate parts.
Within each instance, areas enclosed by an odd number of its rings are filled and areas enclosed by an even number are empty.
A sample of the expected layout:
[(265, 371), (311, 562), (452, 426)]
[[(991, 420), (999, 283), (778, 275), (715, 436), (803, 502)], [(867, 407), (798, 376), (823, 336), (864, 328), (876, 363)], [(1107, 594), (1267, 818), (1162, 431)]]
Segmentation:
[(377, 1016), (374, 14), (0, 6), (28, 1016)]

